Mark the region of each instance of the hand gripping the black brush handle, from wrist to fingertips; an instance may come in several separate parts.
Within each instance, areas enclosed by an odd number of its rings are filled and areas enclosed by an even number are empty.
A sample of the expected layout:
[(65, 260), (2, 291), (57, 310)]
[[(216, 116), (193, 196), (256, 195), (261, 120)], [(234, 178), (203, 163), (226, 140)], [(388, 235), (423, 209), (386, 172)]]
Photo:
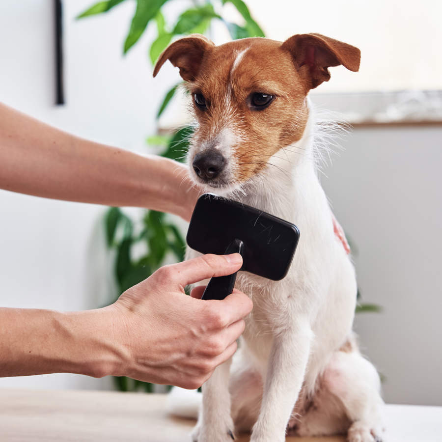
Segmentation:
[(237, 349), (252, 302), (234, 290), (222, 301), (186, 296), (184, 287), (236, 272), (241, 255), (203, 255), (157, 270), (110, 307), (117, 353), (115, 376), (156, 384), (200, 387)]

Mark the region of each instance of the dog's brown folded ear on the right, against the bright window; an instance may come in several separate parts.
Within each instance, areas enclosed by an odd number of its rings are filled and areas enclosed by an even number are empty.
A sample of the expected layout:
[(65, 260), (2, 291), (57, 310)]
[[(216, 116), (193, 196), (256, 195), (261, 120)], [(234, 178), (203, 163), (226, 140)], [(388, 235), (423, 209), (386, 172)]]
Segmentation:
[(281, 48), (292, 55), (307, 90), (330, 80), (330, 66), (342, 64), (350, 71), (359, 70), (358, 48), (321, 34), (293, 35)]

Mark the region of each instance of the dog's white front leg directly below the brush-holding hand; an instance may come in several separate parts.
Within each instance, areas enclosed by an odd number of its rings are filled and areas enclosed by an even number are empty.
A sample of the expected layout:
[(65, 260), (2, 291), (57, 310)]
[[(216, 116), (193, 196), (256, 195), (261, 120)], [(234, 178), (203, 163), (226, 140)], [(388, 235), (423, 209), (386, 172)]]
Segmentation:
[(219, 365), (202, 386), (203, 400), (193, 442), (228, 442), (234, 439), (230, 414), (229, 374), (232, 358)]

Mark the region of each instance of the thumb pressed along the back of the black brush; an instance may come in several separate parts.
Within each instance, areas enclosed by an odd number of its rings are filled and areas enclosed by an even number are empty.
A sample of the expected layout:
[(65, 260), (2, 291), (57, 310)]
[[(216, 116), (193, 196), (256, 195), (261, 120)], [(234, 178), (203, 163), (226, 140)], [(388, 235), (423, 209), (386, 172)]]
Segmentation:
[[(243, 265), (239, 253), (230, 255), (201, 255), (189, 261), (163, 267), (167, 268), (168, 276), (182, 286), (202, 281), (212, 276), (231, 275)], [(162, 270), (162, 269), (160, 269)]]

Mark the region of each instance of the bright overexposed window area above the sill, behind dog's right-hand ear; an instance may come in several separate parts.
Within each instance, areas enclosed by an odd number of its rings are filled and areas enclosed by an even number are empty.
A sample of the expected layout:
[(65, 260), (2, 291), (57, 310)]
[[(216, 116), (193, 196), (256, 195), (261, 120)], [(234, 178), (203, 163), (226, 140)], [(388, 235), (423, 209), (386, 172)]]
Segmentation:
[[(266, 35), (284, 40), (319, 32), (361, 50), (357, 75), (331, 68), (322, 92), (440, 89), (442, 3), (435, 0), (251, 0)], [(413, 61), (410, 58), (413, 54)]]

